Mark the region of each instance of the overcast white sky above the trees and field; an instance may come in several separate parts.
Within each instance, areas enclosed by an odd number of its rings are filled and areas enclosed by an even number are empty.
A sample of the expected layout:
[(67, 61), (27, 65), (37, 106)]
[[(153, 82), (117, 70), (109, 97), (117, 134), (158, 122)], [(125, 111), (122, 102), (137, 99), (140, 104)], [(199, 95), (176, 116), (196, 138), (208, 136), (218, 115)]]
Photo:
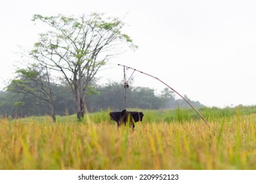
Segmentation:
[[(123, 78), (117, 63), (157, 76), (172, 88), (207, 106), (256, 105), (256, 1), (249, 0), (1, 0), (0, 87), (26, 61), (45, 27), (33, 14), (81, 15), (104, 12), (125, 18), (125, 31), (139, 46), (111, 61), (98, 76), (102, 82)], [(129, 73), (128, 73), (129, 75)], [(140, 73), (135, 86), (156, 90), (163, 84)]]

